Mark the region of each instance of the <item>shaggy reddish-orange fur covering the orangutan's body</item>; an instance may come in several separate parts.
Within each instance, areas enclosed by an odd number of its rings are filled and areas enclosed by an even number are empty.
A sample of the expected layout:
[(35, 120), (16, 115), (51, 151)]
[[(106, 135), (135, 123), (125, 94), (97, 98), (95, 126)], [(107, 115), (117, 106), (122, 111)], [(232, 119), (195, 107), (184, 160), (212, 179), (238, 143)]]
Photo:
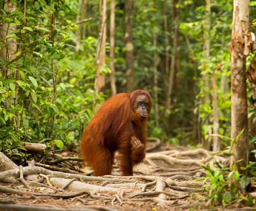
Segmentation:
[[(116, 94), (98, 109), (84, 131), (80, 150), (88, 165), (93, 167), (95, 176), (111, 174), (115, 151), (120, 153), (118, 160), (125, 176), (132, 175), (133, 165), (145, 157), (147, 120), (132, 110), (141, 94), (148, 97), (150, 112), (152, 100), (147, 91)], [(132, 136), (138, 138), (144, 147), (132, 151)]]

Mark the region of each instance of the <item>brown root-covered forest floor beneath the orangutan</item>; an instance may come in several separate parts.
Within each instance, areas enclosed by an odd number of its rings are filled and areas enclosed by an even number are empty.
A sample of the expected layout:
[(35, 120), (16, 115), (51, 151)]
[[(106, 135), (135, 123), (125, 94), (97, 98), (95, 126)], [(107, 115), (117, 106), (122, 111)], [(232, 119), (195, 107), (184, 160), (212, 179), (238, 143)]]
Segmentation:
[[(97, 178), (24, 167), (16, 182), (0, 183), (0, 210), (256, 210), (241, 204), (211, 207), (202, 189), (204, 182), (195, 181), (205, 176), (199, 164), (209, 160), (210, 155), (203, 149), (187, 150), (161, 143), (147, 154), (142, 164), (134, 167), (132, 177), (121, 177), (117, 165), (112, 176)], [(72, 161), (72, 165), (81, 166), (81, 162)], [(36, 177), (34, 183), (25, 177), (40, 172), (41, 178)], [(18, 169), (9, 176), (20, 174)]]

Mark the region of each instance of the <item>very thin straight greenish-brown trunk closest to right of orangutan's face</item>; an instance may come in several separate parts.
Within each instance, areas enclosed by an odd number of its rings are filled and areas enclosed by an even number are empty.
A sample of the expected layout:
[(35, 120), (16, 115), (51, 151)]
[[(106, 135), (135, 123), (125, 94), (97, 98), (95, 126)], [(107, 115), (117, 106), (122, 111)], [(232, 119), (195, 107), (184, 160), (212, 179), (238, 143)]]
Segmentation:
[(157, 34), (153, 32), (153, 46), (154, 46), (154, 117), (156, 126), (159, 127), (159, 109), (158, 109), (158, 55), (157, 55)]

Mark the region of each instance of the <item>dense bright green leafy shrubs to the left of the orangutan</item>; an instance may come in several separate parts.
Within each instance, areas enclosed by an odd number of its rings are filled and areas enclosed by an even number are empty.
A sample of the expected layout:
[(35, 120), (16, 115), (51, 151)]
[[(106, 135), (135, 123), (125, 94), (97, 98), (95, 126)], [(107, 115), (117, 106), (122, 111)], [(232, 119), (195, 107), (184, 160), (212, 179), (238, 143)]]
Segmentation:
[[(14, 59), (0, 57), (0, 150), (22, 157), (23, 141), (63, 149), (92, 118), (98, 41), (88, 36), (74, 51), (77, 2), (27, 0), (25, 15), (23, 2), (12, 4), (15, 11), (0, 22), (10, 26), (8, 42), (20, 45)], [(10, 45), (0, 47), (10, 52)]]

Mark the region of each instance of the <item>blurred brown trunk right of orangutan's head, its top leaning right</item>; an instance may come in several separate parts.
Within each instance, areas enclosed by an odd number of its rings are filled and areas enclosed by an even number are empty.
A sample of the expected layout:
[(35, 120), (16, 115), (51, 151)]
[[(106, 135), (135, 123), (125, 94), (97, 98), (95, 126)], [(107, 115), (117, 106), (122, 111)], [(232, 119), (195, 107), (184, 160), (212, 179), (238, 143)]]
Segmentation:
[(171, 52), (171, 66), (169, 72), (169, 83), (168, 89), (166, 94), (166, 103), (163, 109), (163, 116), (166, 116), (166, 112), (171, 107), (171, 95), (173, 91), (173, 80), (175, 79), (175, 63), (176, 63), (176, 52), (178, 46), (178, 29), (179, 29), (179, 12), (177, 9), (177, 4), (179, 3), (178, 0), (172, 1), (173, 7), (173, 19), (174, 19), (174, 32), (173, 32), (173, 39), (172, 39), (172, 52)]

